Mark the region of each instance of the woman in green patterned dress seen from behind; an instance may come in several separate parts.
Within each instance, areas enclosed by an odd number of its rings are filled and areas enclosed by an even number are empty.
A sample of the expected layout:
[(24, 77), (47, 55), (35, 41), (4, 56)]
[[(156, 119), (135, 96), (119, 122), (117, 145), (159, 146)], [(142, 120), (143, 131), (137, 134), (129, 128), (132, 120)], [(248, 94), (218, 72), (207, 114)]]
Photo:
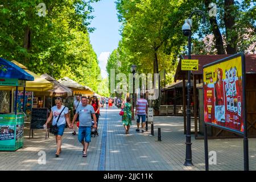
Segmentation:
[(129, 134), (129, 129), (131, 126), (131, 116), (133, 115), (133, 106), (131, 105), (131, 98), (127, 97), (126, 102), (123, 101), (121, 109), (124, 113), (122, 115), (123, 127), (125, 127), (125, 134)]

